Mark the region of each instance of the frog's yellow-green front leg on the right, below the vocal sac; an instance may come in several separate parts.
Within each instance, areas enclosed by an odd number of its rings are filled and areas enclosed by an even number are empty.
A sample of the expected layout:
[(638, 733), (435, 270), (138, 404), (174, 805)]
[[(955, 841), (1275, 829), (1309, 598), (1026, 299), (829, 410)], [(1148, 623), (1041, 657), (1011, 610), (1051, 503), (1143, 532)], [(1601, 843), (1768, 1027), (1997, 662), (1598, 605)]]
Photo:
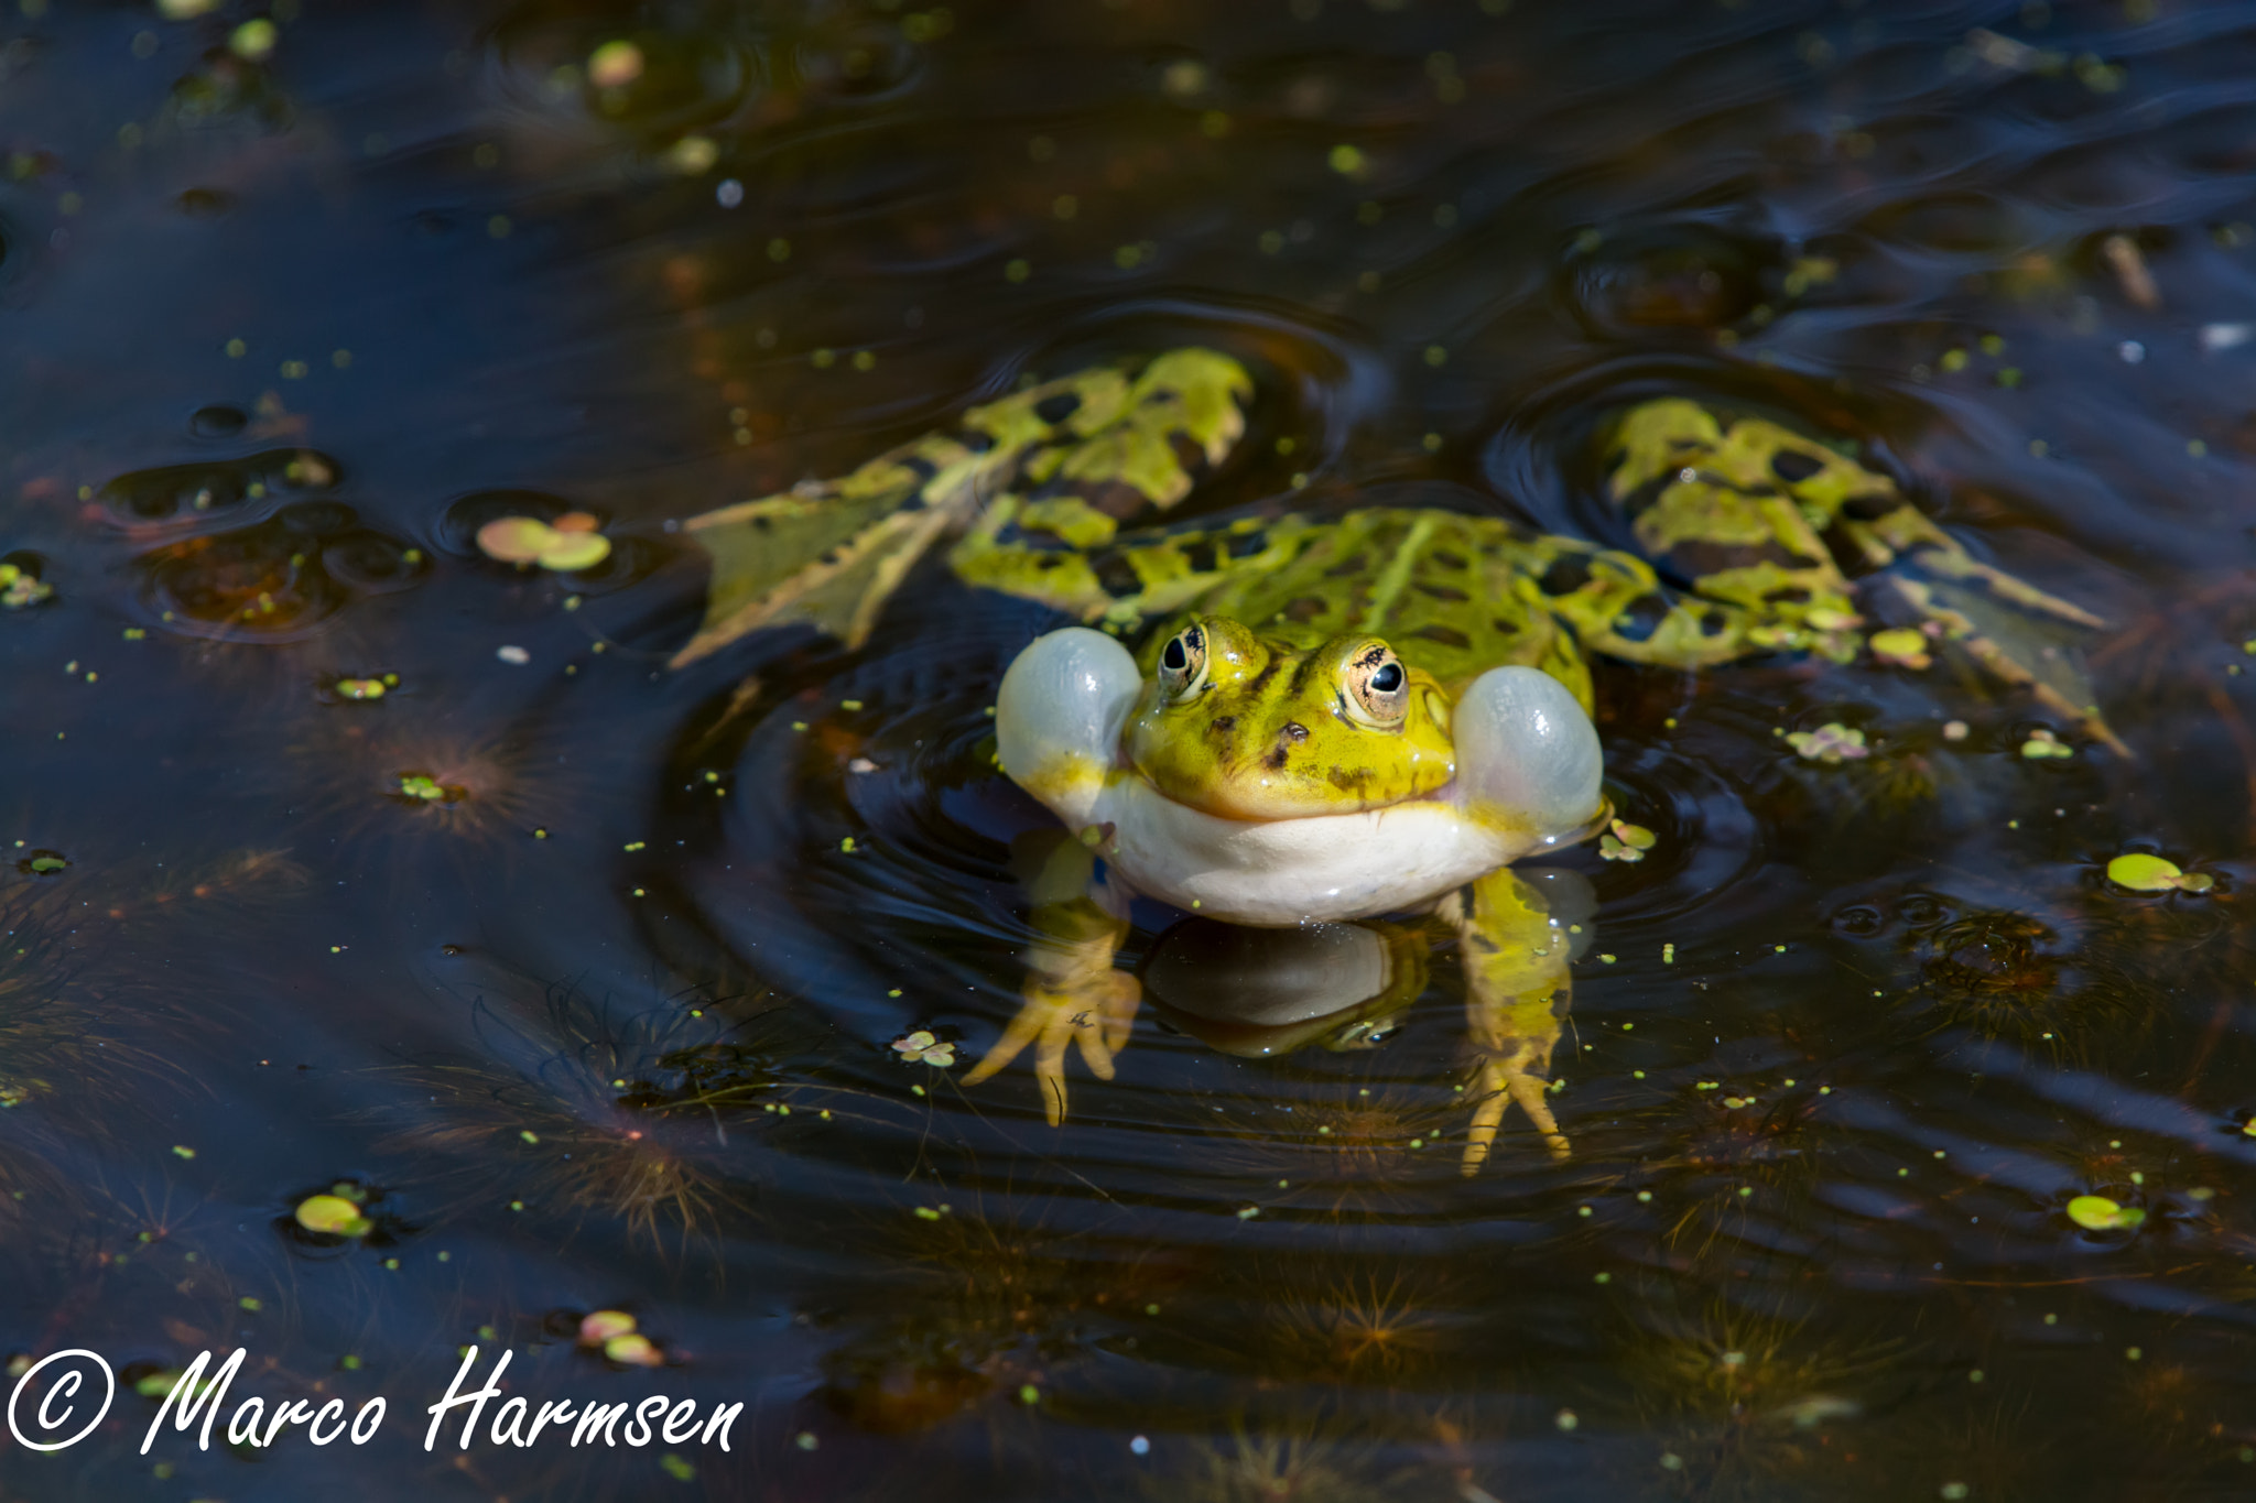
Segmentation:
[(1552, 1158), (1568, 1156), (1566, 1133), (1545, 1091), (1550, 1057), (1568, 1010), (1568, 935), (1527, 879), (1491, 872), (1448, 899), (1442, 915), (1457, 928), (1464, 967), (1464, 1016), (1480, 1055), (1473, 1131), (1464, 1172), (1478, 1174), (1516, 1102)]

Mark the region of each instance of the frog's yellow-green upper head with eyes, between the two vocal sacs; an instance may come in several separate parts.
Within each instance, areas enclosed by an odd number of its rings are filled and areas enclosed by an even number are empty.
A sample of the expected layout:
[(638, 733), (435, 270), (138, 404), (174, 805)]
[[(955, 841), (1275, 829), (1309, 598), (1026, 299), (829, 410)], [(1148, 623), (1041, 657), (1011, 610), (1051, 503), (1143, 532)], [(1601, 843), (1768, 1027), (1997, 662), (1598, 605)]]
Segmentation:
[(1220, 615), (1160, 647), (1123, 746), (1160, 793), (1225, 820), (1376, 809), (1457, 771), (1448, 696), (1378, 638), (1290, 647)]

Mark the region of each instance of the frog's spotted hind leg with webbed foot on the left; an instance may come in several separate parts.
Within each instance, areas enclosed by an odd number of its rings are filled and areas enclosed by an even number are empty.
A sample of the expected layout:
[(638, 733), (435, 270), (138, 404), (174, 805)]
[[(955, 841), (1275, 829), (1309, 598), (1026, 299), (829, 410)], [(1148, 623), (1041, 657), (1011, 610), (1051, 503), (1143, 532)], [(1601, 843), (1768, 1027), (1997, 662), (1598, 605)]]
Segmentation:
[(972, 408), (848, 475), (695, 516), (686, 530), (713, 554), (713, 586), (675, 667), (790, 622), (860, 647), (916, 561), (975, 527), (1022, 518), (1054, 548), (1110, 539), (1117, 518), (1173, 507), (1230, 453), (1250, 394), (1234, 358), (1171, 349), (1137, 374), (1085, 370)]

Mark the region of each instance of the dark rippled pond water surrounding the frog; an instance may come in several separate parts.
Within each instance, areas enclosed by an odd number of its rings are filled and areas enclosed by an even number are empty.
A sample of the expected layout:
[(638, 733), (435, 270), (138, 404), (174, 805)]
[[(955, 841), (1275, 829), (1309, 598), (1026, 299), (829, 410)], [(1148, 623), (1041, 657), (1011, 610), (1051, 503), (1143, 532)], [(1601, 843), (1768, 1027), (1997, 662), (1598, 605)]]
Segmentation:
[[(0, 1350), (120, 1372), (0, 1496), (2256, 1487), (2256, 7), (262, 16), (0, 20)], [(1561, 861), (1572, 1158), (1514, 1113), (1457, 1174), (1448, 946), (1376, 1050), (1146, 1010), (1051, 1129), (961, 1075), (1047, 822), (986, 708), (1060, 617), (934, 559), (860, 651), (668, 672), (677, 523), (1187, 343), (1261, 383), (1189, 512), (1618, 543), (1631, 399), (1854, 444), (2109, 620), (2130, 755), (1958, 658), (1604, 665), (1660, 841)], [(569, 512), (591, 570), (478, 552)], [(426, 1449), (467, 1345), (503, 1395)], [(381, 1426), (142, 1453), (237, 1348), (230, 1413)], [(494, 1442), (645, 1395), (731, 1447)]]

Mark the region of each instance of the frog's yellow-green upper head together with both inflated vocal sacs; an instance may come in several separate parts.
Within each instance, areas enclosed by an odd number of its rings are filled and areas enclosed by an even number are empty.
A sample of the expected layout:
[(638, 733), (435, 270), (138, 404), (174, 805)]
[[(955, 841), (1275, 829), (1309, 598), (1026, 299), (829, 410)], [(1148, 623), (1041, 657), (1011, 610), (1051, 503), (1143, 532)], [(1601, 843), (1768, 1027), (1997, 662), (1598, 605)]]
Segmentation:
[(1597, 730), (1548, 674), (1493, 667), (1451, 703), (1376, 638), (1302, 651), (1223, 617), (1169, 638), (1151, 683), (1117, 640), (1051, 631), (1004, 674), (995, 732), (1011, 780), (1074, 827), (1114, 777), (1241, 822), (1435, 800), (1516, 854), (1602, 807)]

